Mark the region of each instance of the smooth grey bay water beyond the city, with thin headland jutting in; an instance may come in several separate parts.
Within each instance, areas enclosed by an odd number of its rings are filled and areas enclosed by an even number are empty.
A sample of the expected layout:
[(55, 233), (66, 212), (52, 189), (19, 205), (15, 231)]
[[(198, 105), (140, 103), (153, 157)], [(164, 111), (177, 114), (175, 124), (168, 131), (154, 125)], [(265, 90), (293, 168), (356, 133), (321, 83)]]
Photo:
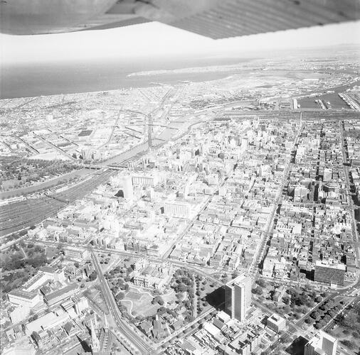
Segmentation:
[(192, 58), (181, 60), (112, 60), (96, 62), (62, 62), (8, 65), (1, 68), (0, 98), (38, 97), (41, 95), (97, 92), (129, 87), (149, 87), (156, 84), (176, 84), (182, 81), (218, 80), (233, 71), (181, 72), (159, 75), (135, 75), (149, 70), (175, 70), (209, 65), (235, 65), (255, 58)]

